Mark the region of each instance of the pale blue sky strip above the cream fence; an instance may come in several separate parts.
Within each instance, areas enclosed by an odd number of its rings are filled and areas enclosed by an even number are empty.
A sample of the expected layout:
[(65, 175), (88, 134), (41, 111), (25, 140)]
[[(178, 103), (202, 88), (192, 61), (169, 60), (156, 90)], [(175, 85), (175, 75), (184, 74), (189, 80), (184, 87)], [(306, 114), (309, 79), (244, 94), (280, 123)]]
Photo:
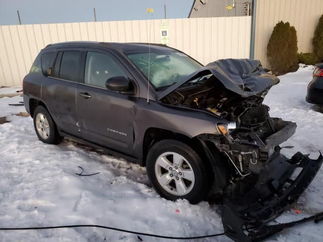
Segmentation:
[(94, 21), (141, 20), (151, 18), (146, 8), (153, 8), (153, 19), (187, 18), (193, 0), (0, 0), (0, 25), (46, 24)]

